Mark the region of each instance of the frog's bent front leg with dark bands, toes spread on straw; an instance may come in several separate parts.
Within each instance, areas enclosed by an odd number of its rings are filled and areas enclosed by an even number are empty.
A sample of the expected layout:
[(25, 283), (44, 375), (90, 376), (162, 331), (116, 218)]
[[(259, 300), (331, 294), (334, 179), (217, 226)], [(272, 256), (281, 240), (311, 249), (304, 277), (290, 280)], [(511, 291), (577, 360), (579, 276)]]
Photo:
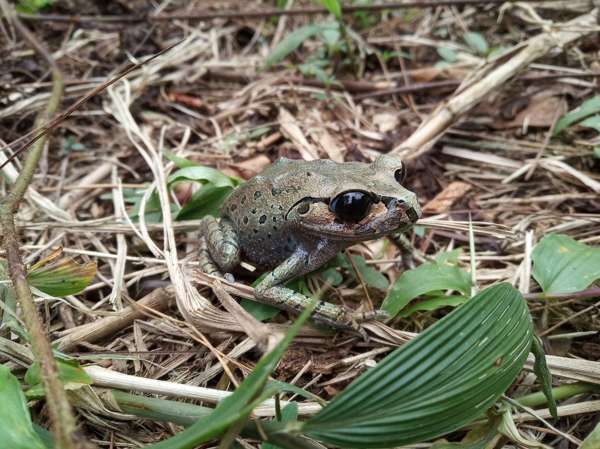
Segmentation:
[[(301, 312), (303, 309), (307, 308), (311, 299), (284, 287), (284, 285), (290, 279), (304, 275), (321, 266), (331, 259), (339, 249), (341, 248), (338, 247), (338, 245), (335, 245), (335, 243), (326, 242), (324, 240), (301, 243), (286, 261), (269, 273), (269, 275), (254, 288), (254, 297), (260, 302), (268, 303), (293, 312)], [(367, 320), (382, 315), (377, 312), (352, 314), (334, 304), (319, 301), (314, 308), (311, 317), (333, 327), (355, 330), (362, 335), (365, 342), (368, 342), (369, 337), (360, 324), (358, 324), (358, 320), (361, 318)]]

